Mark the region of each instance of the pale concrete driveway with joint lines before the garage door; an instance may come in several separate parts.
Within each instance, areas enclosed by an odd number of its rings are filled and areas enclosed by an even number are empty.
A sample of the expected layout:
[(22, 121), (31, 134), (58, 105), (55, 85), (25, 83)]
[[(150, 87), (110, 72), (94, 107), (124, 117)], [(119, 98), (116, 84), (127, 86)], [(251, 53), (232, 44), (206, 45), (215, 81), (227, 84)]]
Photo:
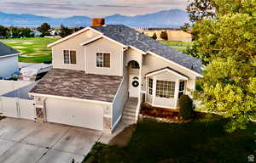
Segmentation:
[(0, 121), (0, 162), (80, 163), (101, 138), (95, 130), (6, 118)]

